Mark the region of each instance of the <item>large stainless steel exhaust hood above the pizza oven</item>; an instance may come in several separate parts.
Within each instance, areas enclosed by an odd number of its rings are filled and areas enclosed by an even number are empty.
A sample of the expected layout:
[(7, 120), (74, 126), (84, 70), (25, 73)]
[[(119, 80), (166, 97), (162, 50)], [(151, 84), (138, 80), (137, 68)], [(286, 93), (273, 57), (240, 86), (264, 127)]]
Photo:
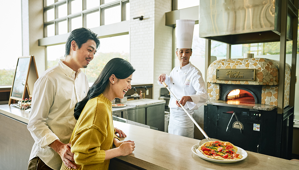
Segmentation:
[[(227, 44), (280, 41), (280, 7), (281, 0), (200, 0), (199, 37)], [(287, 40), (292, 40), (293, 11), (288, 11)]]

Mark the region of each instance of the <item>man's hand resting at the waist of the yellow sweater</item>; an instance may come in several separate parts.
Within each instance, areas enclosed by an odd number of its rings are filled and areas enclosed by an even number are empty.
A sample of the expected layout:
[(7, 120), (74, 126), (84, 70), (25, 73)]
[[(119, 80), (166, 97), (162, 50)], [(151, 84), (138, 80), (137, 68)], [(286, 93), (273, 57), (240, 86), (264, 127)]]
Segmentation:
[(61, 160), (66, 167), (69, 169), (77, 169), (77, 166), (71, 162), (75, 161), (74, 154), (71, 152), (71, 143), (64, 144), (60, 140), (55, 140), (49, 146), (60, 155)]

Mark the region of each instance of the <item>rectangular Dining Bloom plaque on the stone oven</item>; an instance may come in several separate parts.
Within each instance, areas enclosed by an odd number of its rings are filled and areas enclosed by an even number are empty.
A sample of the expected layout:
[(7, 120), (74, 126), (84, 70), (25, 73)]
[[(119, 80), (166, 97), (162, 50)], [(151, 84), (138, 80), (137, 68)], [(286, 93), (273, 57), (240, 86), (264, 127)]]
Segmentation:
[(254, 81), (255, 69), (217, 69), (216, 80)]

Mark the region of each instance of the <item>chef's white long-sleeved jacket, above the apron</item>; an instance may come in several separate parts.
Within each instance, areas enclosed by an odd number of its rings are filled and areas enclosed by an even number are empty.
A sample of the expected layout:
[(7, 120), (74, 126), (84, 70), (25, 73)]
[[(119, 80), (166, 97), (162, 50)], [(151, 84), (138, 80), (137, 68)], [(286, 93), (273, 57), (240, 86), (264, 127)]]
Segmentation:
[[(179, 100), (183, 96), (191, 97), (193, 102), (187, 101), (184, 106), (188, 112), (198, 109), (208, 100), (208, 93), (205, 90), (202, 73), (191, 62), (182, 68), (180, 66), (174, 67), (170, 72), (170, 76), (166, 75), (164, 82)], [(162, 86), (159, 81), (158, 84)], [(176, 99), (171, 94), (168, 107), (183, 111), (181, 107), (176, 105)]]

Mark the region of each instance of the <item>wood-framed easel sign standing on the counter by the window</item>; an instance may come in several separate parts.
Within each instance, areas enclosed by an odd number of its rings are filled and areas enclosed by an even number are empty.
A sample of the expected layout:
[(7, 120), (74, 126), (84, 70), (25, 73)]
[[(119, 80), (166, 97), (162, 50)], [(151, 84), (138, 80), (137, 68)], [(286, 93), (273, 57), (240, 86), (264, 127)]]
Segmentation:
[(8, 105), (10, 105), (12, 99), (22, 101), (26, 90), (29, 97), (32, 97), (33, 86), (37, 78), (38, 74), (34, 56), (19, 57)]

